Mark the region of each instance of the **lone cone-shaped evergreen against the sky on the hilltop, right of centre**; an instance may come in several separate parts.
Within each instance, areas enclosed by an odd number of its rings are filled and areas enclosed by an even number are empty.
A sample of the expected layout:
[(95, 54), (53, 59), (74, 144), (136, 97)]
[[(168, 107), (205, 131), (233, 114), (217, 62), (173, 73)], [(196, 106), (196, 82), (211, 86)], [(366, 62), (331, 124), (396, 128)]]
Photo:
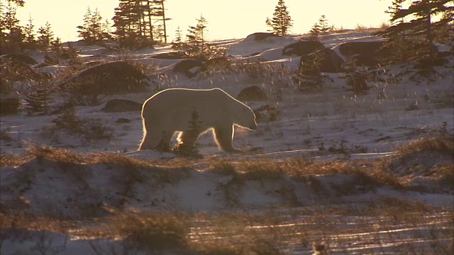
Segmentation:
[(271, 31), (277, 35), (287, 35), (289, 28), (292, 28), (292, 18), (290, 17), (287, 6), (285, 6), (284, 0), (278, 0), (275, 12), (272, 14), (272, 18), (267, 18), (265, 21), (267, 26), (271, 28)]

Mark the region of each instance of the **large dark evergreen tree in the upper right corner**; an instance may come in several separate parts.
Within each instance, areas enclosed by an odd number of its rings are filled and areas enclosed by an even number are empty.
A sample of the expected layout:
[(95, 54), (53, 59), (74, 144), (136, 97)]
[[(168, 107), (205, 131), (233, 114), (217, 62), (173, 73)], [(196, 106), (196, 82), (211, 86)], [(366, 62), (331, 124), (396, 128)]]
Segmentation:
[[(421, 60), (433, 55), (433, 40), (452, 38), (454, 5), (452, 0), (411, 1), (408, 8), (403, 5), (409, 0), (394, 0), (387, 13), (392, 26), (377, 35), (387, 39), (385, 48), (392, 54), (386, 62)], [(433, 21), (432, 16), (441, 14)], [(409, 21), (406, 21), (409, 19)], [(441, 36), (443, 35), (443, 36)]]

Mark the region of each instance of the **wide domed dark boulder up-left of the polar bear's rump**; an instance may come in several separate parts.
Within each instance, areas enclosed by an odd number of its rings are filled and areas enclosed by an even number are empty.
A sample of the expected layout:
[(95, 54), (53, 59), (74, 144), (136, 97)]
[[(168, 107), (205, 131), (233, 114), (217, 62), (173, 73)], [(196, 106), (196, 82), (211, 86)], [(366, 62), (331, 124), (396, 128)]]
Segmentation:
[(79, 94), (123, 94), (146, 91), (149, 80), (126, 62), (110, 62), (89, 67), (60, 84), (60, 88)]

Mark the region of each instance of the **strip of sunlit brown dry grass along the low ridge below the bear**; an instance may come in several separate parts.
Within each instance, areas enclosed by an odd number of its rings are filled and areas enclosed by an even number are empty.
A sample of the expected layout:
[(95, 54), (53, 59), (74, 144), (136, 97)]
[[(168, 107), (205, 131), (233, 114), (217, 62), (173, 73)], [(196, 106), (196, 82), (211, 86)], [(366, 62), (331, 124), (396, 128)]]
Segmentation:
[[(356, 176), (355, 181), (362, 186), (370, 188), (382, 185), (402, 188), (402, 180), (399, 180), (399, 177), (402, 175), (389, 169), (392, 164), (397, 164), (395, 163), (395, 159), (402, 161), (402, 158), (419, 152), (431, 152), (447, 157), (454, 155), (452, 136), (414, 140), (408, 145), (397, 148), (395, 152), (396, 156), (387, 160), (331, 159), (311, 161), (310, 159), (301, 157), (287, 157), (282, 159), (175, 158), (140, 160), (126, 157), (118, 152), (77, 153), (69, 149), (47, 147), (33, 143), (27, 143), (26, 147), (26, 154), (23, 155), (2, 154), (1, 166), (18, 166), (33, 158), (72, 164), (95, 164), (102, 162), (111, 166), (123, 166), (127, 169), (135, 169), (135, 171), (132, 171), (136, 173), (135, 176), (140, 176), (140, 174), (137, 174), (138, 169), (153, 169), (153, 171), (160, 173), (159, 179), (162, 181), (167, 180), (170, 183), (174, 183), (186, 176), (188, 173), (187, 171), (183, 171), (184, 169), (207, 170), (216, 174), (233, 176), (239, 182), (282, 180), (284, 176), (306, 179), (307, 176), (311, 175), (352, 174)], [(389, 162), (392, 162), (392, 164)], [(159, 169), (167, 170), (160, 171)], [(175, 171), (168, 171), (169, 169), (175, 169)], [(454, 164), (445, 163), (430, 166), (428, 171), (426, 171), (426, 176), (453, 180)], [(345, 192), (348, 193), (348, 191)]]

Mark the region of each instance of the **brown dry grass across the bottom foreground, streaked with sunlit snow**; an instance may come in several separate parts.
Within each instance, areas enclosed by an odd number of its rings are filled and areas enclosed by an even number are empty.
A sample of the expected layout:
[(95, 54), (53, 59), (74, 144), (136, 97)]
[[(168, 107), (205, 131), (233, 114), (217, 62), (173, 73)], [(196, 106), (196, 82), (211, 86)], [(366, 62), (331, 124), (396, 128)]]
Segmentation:
[[(449, 246), (452, 229), (443, 226), (452, 220), (453, 211), (441, 212), (423, 203), (389, 197), (356, 207), (353, 214), (350, 208), (332, 205), (215, 214), (118, 212), (82, 222), (0, 215), (0, 222), (2, 230), (21, 227), (67, 232), (72, 237), (94, 240), (117, 239), (128, 249), (149, 254), (162, 251), (209, 255), (283, 254), (279, 251), (283, 246), (309, 251), (310, 244), (321, 241), (328, 250), (372, 245), (377, 247), (375, 251), (383, 251), (392, 244), (401, 254), (450, 254), (452, 251)], [(427, 240), (430, 245), (408, 242), (413, 239)], [(401, 242), (406, 245), (402, 246)]]

